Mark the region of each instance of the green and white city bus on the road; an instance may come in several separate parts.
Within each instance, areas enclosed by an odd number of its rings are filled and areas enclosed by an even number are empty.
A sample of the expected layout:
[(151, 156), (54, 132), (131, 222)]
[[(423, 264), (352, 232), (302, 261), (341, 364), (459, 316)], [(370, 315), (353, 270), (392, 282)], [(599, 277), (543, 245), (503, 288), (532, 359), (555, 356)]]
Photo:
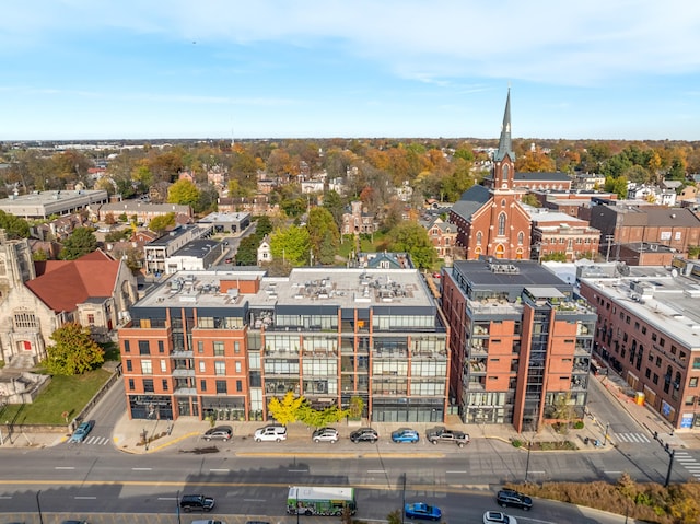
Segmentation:
[(348, 508), (354, 515), (358, 505), (354, 488), (331, 486), (292, 486), (287, 497), (287, 513), (290, 515), (341, 515)]

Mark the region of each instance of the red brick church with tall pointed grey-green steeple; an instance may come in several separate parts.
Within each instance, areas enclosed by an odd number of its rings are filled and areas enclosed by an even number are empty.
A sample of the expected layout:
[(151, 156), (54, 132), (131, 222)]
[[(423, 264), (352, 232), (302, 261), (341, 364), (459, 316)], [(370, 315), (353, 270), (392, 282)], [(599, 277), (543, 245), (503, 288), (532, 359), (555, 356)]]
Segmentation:
[(491, 188), (470, 187), (450, 211), (450, 222), (457, 226), (457, 245), (464, 248), (467, 260), (479, 256), (528, 259), (532, 223), (521, 205), (525, 189), (514, 188), (510, 90), (491, 175)]

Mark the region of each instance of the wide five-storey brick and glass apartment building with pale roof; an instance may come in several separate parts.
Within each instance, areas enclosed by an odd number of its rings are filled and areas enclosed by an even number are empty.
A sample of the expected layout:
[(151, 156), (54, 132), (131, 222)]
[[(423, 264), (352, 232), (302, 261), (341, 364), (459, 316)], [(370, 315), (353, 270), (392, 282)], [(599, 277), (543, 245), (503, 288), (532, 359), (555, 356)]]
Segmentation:
[(180, 271), (131, 308), (131, 418), (266, 419), (272, 397), (364, 400), (374, 421), (441, 422), (448, 330), (416, 269)]

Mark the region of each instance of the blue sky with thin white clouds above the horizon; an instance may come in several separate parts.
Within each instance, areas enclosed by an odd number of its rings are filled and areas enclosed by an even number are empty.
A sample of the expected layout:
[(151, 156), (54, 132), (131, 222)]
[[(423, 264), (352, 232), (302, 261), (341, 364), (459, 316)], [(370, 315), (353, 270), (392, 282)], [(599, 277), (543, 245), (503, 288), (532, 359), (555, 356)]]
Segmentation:
[(0, 140), (700, 140), (693, 0), (20, 0)]

